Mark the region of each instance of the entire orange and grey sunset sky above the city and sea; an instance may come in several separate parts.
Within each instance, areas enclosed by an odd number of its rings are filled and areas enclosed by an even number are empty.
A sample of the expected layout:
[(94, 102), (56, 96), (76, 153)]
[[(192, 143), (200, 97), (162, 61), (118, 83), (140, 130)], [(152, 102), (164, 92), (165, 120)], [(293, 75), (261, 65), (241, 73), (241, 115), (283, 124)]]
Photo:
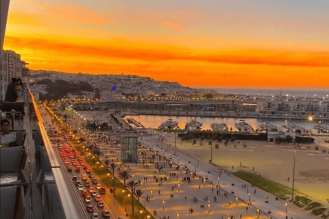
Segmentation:
[(11, 0), (3, 49), (31, 69), (328, 89), (328, 11), (304, 0)]

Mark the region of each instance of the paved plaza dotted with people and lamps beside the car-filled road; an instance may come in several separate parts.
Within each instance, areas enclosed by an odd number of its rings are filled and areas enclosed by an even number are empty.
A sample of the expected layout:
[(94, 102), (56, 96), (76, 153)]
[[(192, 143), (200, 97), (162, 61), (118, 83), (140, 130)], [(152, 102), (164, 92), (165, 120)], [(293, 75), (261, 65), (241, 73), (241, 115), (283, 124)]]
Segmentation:
[[(142, 182), (141, 203), (156, 218), (256, 218), (255, 207), (248, 206), (239, 197), (236, 205), (236, 196), (219, 190), (217, 183), (210, 185), (210, 181), (193, 175), (158, 153), (141, 148), (138, 149), (138, 164), (122, 164), (116, 162), (121, 157), (119, 147), (103, 144), (101, 149), (107, 150), (101, 159), (113, 159), (114, 163), (121, 164), (121, 171), (130, 171), (134, 175), (132, 179)], [(260, 218), (267, 216), (260, 214)]]

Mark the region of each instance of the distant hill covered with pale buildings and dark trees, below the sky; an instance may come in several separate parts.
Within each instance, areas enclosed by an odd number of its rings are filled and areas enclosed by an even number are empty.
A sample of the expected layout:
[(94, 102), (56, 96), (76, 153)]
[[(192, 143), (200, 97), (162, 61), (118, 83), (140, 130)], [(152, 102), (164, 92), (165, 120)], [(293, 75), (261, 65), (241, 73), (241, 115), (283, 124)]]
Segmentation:
[[(195, 94), (211, 92), (213, 90), (204, 90), (197, 88), (188, 88), (181, 86), (177, 82), (170, 81), (155, 81), (151, 77), (140, 77), (137, 75), (90, 75), (90, 74), (72, 74), (62, 73), (47, 70), (30, 70), (34, 84), (47, 85), (47, 88), (42, 91), (44, 94), (51, 92), (80, 94), (81, 92), (99, 92), (101, 96), (111, 96), (113, 92), (125, 95), (140, 95), (147, 96), (148, 94)], [(51, 83), (51, 81), (53, 83)], [(60, 81), (66, 81), (62, 83)], [(56, 83), (61, 86), (56, 87)], [(78, 86), (82, 84), (84, 86)], [(112, 88), (115, 86), (116, 90)], [(45, 86), (44, 86), (45, 87)], [(63, 87), (66, 87), (63, 90)], [(84, 89), (86, 88), (86, 89)], [(48, 98), (47, 98), (48, 99)]]

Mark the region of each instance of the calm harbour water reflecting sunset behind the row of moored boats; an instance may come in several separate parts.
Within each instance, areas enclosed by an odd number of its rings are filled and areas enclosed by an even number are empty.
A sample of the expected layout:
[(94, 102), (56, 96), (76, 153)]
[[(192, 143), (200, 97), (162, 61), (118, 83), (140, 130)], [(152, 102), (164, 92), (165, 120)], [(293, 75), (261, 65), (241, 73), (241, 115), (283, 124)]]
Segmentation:
[[(156, 129), (158, 128), (161, 123), (164, 123), (166, 120), (171, 118), (173, 121), (178, 122), (178, 126), (180, 129), (184, 129), (186, 123), (190, 122), (191, 120), (197, 120), (201, 122), (202, 130), (211, 129), (211, 123), (226, 123), (228, 125), (228, 129), (232, 127), (233, 130), (237, 131), (234, 123), (239, 122), (239, 118), (206, 118), (206, 117), (192, 117), (192, 116), (126, 116), (126, 118), (134, 118), (134, 120), (142, 123), (146, 128), (149, 129)], [(245, 119), (247, 123), (249, 123), (253, 129), (258, 129), (260, 125), (263, 123), (270, 123), (271, 125), (276, 125), (278, 129), (282, 128), (282, 125), (285, 124), (285, 120), (271, 120), (271, 119), (258, 119), (258, 118), (247, 118)], [(315, 122), (308, 122), (307, 120), (291, 120), (291, 123), (303, 127), (306, 130), (312, 129), (315, 132), (313, 127), (317, 125)], [(327, 124), (328, 125), (328, 124)]]

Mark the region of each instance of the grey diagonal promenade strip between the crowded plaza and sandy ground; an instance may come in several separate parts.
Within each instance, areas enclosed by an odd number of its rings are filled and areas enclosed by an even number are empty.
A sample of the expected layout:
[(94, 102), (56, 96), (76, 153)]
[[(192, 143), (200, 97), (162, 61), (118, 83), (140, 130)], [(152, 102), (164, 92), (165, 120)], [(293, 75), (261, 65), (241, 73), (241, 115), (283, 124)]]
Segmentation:
[[(221, 184), (221, 188), (226, 190), (227, 192), (234, 192), (234, 194), (238, 194), (239, 198), (244, 201), (249, 201), (249, 194), (251, 198), (251, 203), (253, 206), (259, 206), (261, 210), (267, 212), (271, 211), (271, 215), (275, 218), (285, 218), (286, 215), (289, 218), (299, 218), (306, 219), (309, 218), (306, 212), (304, 215), (301, 215), (299, 212), (297, 213), (291, 207), (293, 204), (288, 203), (288, 214), (286, 212), (286, 206), (284, 201), (276, 201), (276, 196), (268, 194), (258, 188), (252, 188), (249, 186), (249, 191), (247, 188), (241, 188), (242, 184), (248, 184), (241, 179), (237, 179), (236, 177), (232, 177), (221, 172), (219, 168), (215, 166), (211, 166), (210, 164), (205, 164), (204, 162), (198, 161), (195, 157), (191, 157), (191, 155), (187, 155), (186, 153), (182, 153), (177, 149), (171, 148), (166, 144), (162, 144), (162, 142), (158, 142), (158, 136), (151, 136), (149, 138), (143, 138), (143, 143), (151, 147), (151, 149), (155, 151), (159, 151), (160, 154), (163, 154), (166, 157), (172, 157), (174, 162), (179, 162), (180, 165), (186, 166), (189, 170), (195, 171), (195, 166), (197, 167), (197, 175), (202, 175), (203, 177), (208, 177), (209, 181), (212, 181), (213, 184), (217, 184), (218, 178), (219, 183)], [(157, 146), (158, 144), (158, 146)], [(162, 149), (160, 149), (162, 148)], [(175, 155), (174, 155), (175, 154)], [(178, 158), (179, 157), (179, 158)], [(208, 173), (210, 172), (210, 173)], [(234, 185), (232, 185), (234, 184)], [(256, 194), (254, 194), (254, 190), (256, 190)], [(267, 199), (268, 197), (268, 199)], [(265, 203), (268, 201), (269, 203)]]

